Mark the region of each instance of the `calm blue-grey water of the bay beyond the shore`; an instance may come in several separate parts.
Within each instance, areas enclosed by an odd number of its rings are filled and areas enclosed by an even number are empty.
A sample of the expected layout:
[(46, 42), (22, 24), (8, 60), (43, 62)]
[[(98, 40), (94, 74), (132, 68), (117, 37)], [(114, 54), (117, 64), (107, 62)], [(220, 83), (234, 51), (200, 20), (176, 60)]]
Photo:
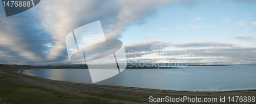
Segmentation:
[[(88, 69), (29, 69), (24, 73), (52, 80), (92, 83)], [(256, 66), (125, 69), (95, 84), (189, 91), (256, 89)]]

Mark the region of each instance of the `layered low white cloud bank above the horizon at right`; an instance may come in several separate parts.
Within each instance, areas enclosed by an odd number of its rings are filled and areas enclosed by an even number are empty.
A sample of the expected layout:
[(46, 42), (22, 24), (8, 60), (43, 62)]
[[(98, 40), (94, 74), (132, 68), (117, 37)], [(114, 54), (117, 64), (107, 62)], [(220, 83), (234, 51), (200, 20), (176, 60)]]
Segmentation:
[[(151, 44), (152, 43), (152, 44)], [(158, 43), (158, 45), (153, 45)], [(256, 57), (248, 57), (255, 54), (256, 47), (242, 47), (233, 43), (220, 41), (201, 41), (186, 43), (169, 43), (170, 46), (164, 45), (164, 41), (145, 41), (139, 44), (126, 45), (127, 49), (136, 50), (128, 51), (126, 57), (129, 62), (189, 62), (189, 63), (255, 63)], [(148, 46), (153, 48), (138, 49), (136, 45)], [(157, 48), (161, 47), (161, 48)], [(164, 47), (186, 47), (179, 50), (162, 50)], [(198, 48), (201, 47), (201, 48)]]

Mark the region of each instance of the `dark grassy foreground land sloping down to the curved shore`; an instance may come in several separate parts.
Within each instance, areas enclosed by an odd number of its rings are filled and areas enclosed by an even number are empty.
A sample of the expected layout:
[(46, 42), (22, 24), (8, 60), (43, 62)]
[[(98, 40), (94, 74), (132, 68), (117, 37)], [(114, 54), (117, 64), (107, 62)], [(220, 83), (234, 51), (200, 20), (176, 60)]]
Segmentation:
[(19, 69), (29, 68), (34, 67), (29, 65), (0, 65), (0, 103), (151, 103), (148, 101), (149, 96), (197, 96), (202, 99), (226, 96), (225, 100), (228, 102), (228, 96), (256, 96), (255, 90), (232, 92), (166, 91), (62, 82), (18, 73)]

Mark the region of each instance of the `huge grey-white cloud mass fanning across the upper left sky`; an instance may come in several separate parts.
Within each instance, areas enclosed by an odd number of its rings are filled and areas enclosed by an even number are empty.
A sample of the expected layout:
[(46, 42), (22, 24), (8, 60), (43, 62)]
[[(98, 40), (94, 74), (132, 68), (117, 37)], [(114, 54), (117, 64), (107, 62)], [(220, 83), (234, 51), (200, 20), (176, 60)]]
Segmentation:
[(65, 37), (72, 30), (100, 20), (105, 38), (119, 39), (127, 27), (145, 23), (146, 17), (155, 16), (156, 7), (173, 2), (46, 0), (33, 9), (10, 17), (6, 17), (1, 9), (0, 63), (70, 63)]

